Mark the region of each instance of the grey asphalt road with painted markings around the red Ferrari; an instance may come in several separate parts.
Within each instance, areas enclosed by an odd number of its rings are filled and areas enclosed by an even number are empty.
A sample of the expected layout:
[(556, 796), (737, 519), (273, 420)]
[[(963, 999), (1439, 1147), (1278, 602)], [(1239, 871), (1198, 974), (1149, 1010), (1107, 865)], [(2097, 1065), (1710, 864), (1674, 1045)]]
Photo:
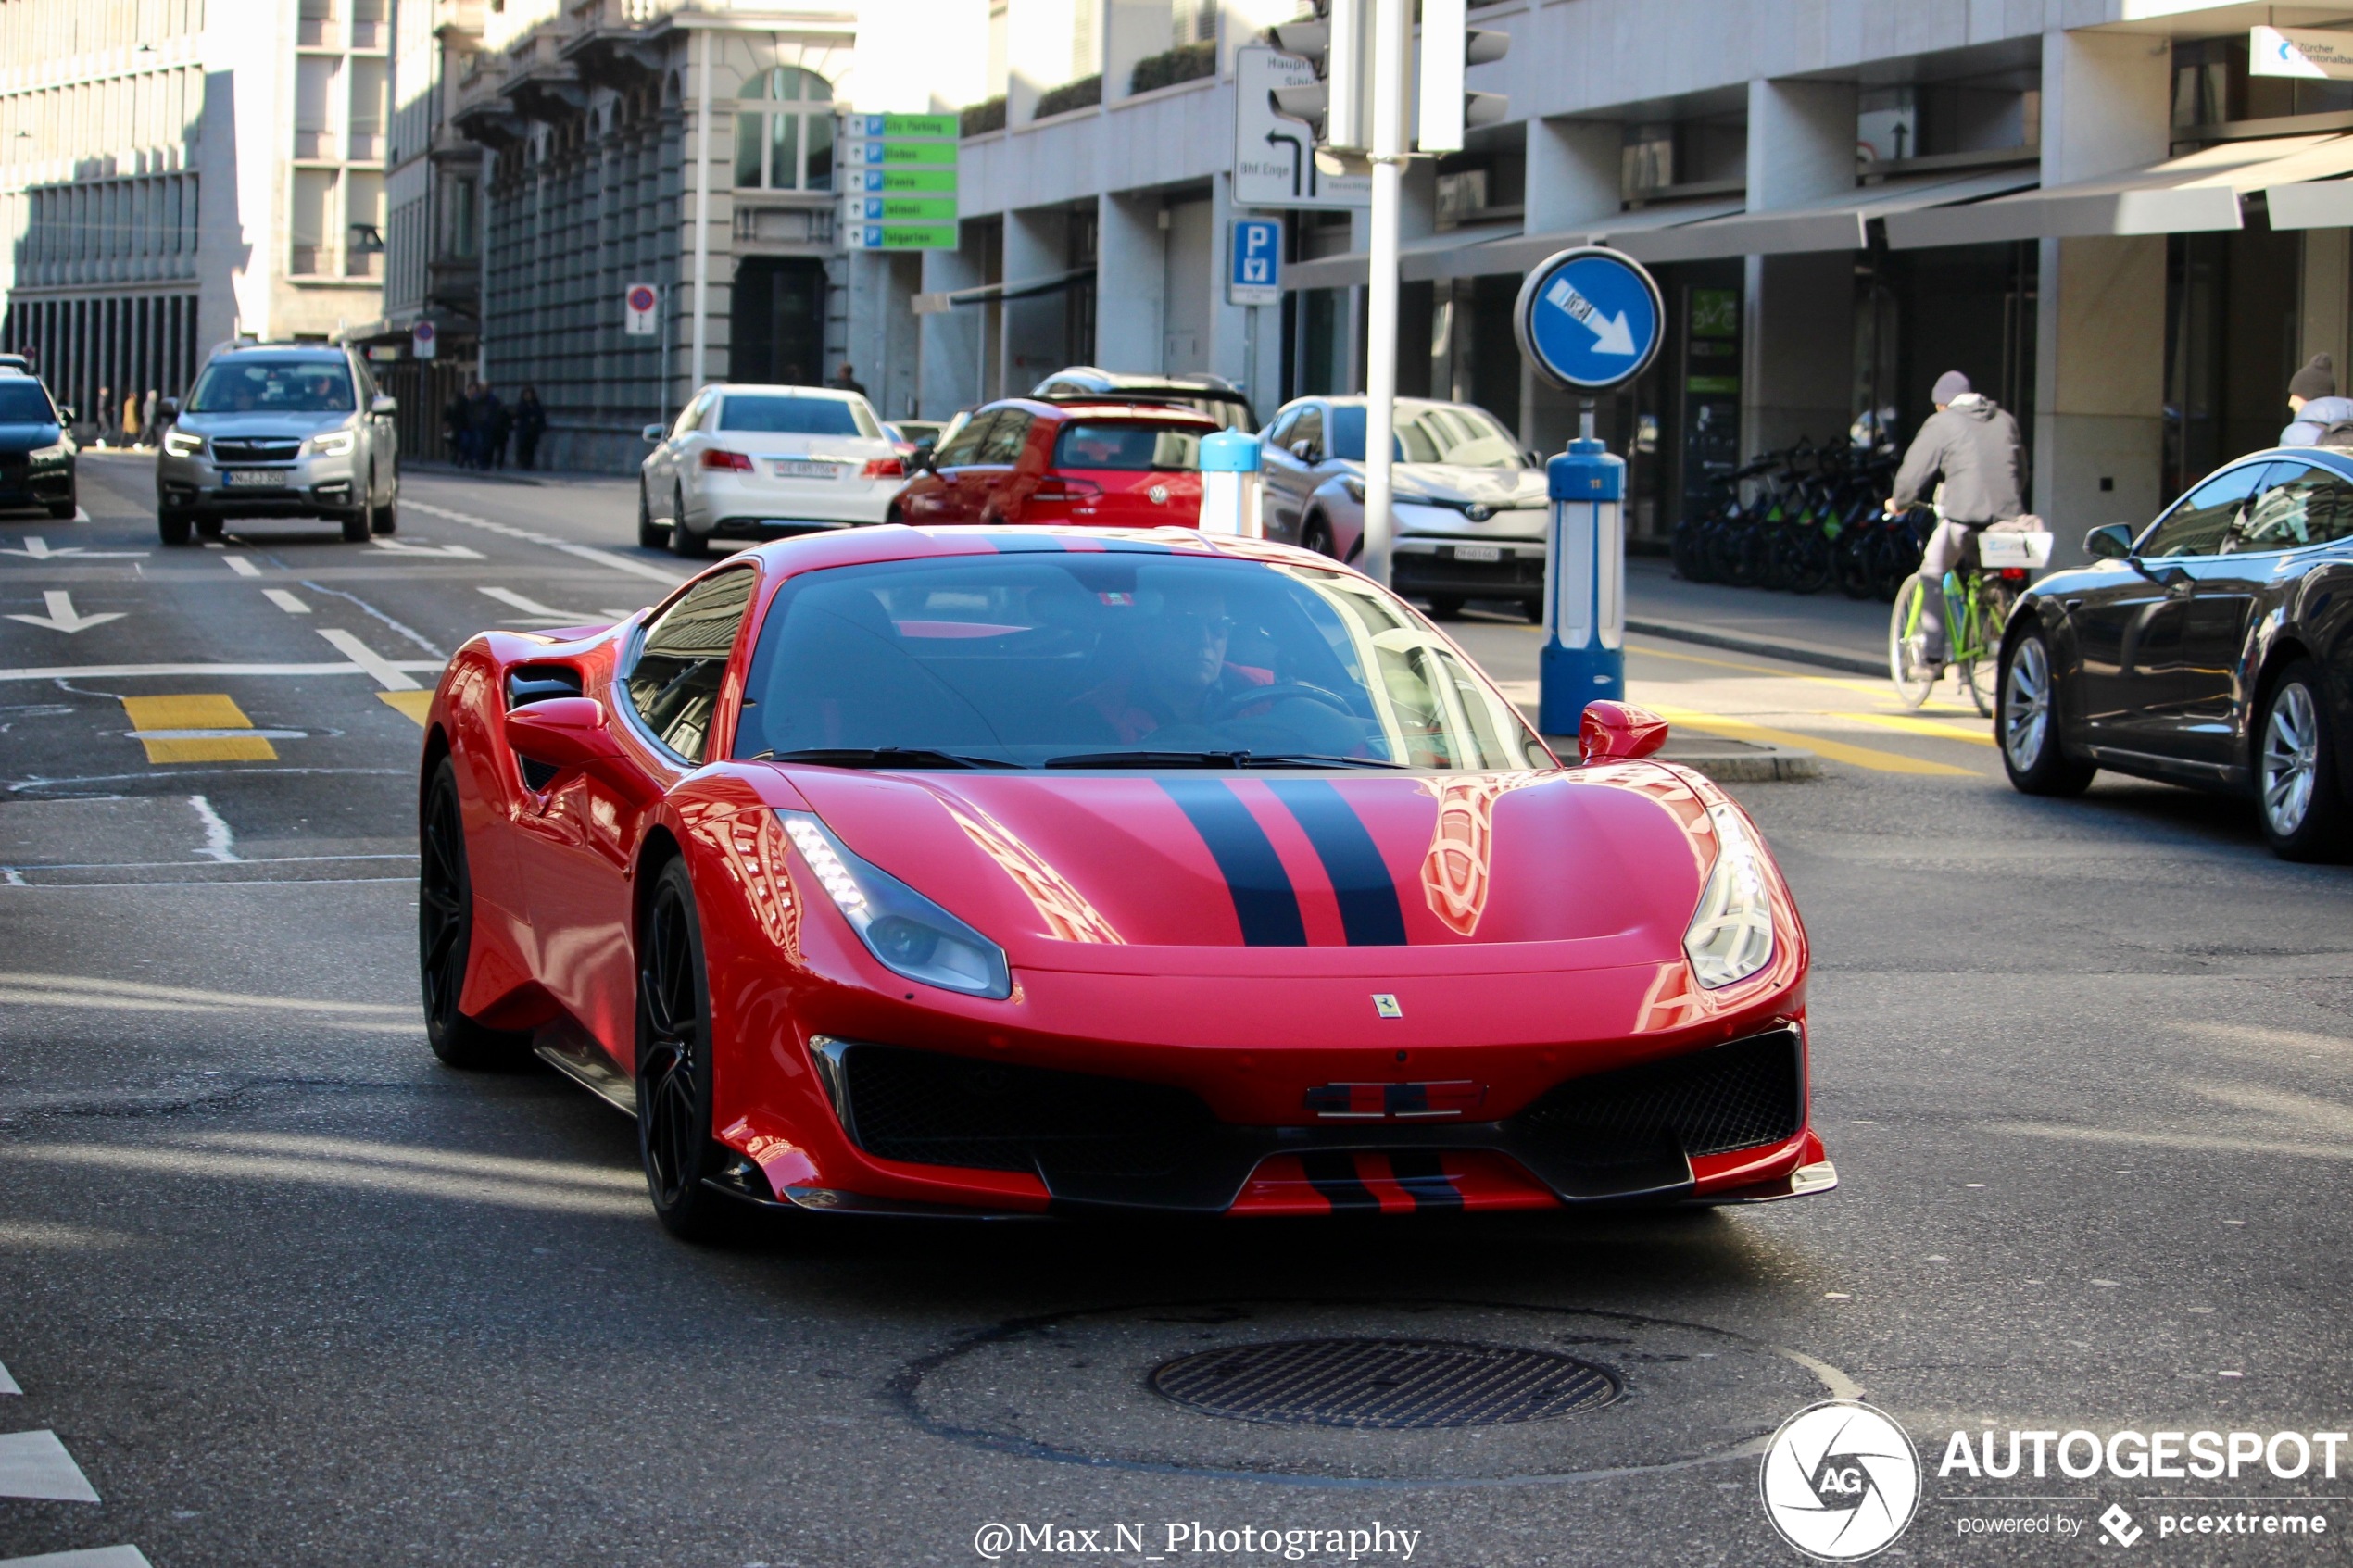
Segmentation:
[[(1927, 1467), (1889, 1556), (2115, 1554), (2094, 1519), (2122, 1505), (2132, 1556), (2344, 1561), (2353, 1453), (1937, 1474), (1955, 1429), (2353, 1425), (2353, 870), (2275, 863), (2242, 806), (2031, 802), (1962, 703), (1889, 724), (1871, 682), (1638, 639), (1638, 701), (1828, 757), (1737, 792), (1814, 938), (1838, 1192), (696, 1251), (626, 1119), (553, 1072), (442, 1070), (416, 1023), (416, 689), (482, 625), (680, 576), (626, 545), (628, 487), (412, 475), (391, 545), (165, 552), (136, 458), (82, 475), (89, 520), (0, 517), (0, 1559), (979, 1563), (1002, 1523), (1007, 1563), (1351, 1561), (1245, 1528), (1362, 1530), (1386, 1563), (1795, 1563), (1760, 1439), (1861, 1394)], [(1527, 628), (1461, 635), (1534, 675)], [(1553, 1349), (1624, 1396), (1381, 1434), (1144, 1385), (1308, 1333)], [(2165, 1535), (2184, 1512), (2257, 1533)], [(2289, 1514), (2327, 1533), (2261, 1533)], [(2002, 1519), (2028, 1533), (1965, 1533)], [(1049, 1523), (1094, 1537), (1019, 1535)]]

